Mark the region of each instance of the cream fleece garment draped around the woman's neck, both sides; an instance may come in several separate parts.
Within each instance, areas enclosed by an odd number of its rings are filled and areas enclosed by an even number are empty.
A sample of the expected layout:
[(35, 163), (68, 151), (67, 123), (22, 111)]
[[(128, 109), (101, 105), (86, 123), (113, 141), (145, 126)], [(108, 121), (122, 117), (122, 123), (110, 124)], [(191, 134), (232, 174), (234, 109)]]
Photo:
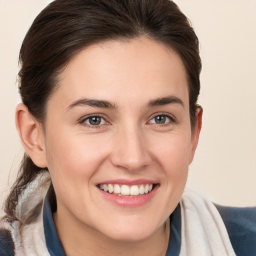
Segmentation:
[[(11, 232), (15, 256), (50, 256), (44, 237), (42, 205), (50, 185), (47, 171), (28, 184), (16, 207), (18, 220), (1, 228)], [(185, 189), (180, 199), (181, 248), (179, 256), (235, 256), (225, 225), (214, 204)]]

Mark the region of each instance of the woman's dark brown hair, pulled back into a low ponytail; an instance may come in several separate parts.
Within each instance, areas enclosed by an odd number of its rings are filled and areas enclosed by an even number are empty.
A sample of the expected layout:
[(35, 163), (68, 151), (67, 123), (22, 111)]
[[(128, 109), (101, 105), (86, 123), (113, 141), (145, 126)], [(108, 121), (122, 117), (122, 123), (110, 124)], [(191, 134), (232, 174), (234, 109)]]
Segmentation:
[[(42, 124), (46, 102), (58, 74), (82, 48), (104, 40), (145, 36), (164, 43), (181, 57), (187, 73), (191, 128), (195, 123), (201, 61), (198, 39), (190, 21), (170, 0), (55, 0), (35, 18), (19, 53), (19, 92), (29, 112)], [(47, 168), (45, 169), (47, 170)], [(18, 196), (42, 171), (25, 154), (5, 203), (6, 218), (14, 219)], [(50, 187), (53, 210), (56, 200)]]

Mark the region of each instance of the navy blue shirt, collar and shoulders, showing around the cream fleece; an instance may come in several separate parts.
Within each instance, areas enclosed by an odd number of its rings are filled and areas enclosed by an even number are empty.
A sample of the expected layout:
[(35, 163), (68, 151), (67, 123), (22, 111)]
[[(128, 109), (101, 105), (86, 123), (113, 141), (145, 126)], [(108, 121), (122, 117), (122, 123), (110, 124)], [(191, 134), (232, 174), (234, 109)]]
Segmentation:
[[(226, 226), (236, 256), (256, 255), (256, 207), (224, 207), (215, 205)], [(180, 206), (170, 215), (170, 237), (166, 256), (178, 256), (180, 251)], [(58, 238), (48, 198), (43, 204), (43, 227), (46, 246), (51, 256), (65, 256)], [(10, 233), (0, 230), (0, 256), (12, 256), (14, 246)]]

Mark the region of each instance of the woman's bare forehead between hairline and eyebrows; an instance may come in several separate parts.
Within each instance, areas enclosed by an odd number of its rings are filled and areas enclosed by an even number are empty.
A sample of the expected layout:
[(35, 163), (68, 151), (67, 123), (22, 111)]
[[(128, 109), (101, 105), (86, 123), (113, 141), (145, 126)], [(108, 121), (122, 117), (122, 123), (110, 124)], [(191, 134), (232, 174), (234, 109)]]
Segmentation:
[(169, 94), (188, 104), (186, 72), (178, 54), (143, 37), (81, 50), (62, 71), (58, 83), (53, 98), (62, 105), (79, 97), (143, 104)]

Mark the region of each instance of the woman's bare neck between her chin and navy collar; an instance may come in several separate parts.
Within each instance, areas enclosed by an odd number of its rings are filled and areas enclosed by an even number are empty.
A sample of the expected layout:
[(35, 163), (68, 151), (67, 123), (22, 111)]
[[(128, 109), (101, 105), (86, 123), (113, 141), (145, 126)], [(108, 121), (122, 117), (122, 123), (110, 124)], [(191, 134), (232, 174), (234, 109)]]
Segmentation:
[(67, 218), (58, 214), (58, 211), (54, 213), (53, 219), (66, 256), (163, 256), (168, 247), (169, 218), (149, 237), (138, 241), (111, 239), (75, 220), (68, 218), (66, 221)]

